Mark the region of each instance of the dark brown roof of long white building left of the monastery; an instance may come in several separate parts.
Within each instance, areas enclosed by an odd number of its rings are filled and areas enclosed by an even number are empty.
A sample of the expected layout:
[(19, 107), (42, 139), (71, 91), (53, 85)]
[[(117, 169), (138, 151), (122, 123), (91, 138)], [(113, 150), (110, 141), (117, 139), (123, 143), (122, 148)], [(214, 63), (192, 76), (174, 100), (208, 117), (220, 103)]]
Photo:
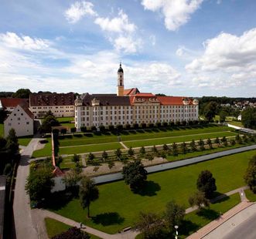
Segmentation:
[(30, 106), (73, 106), (73, 93), (32, 93), (29, 96)]

